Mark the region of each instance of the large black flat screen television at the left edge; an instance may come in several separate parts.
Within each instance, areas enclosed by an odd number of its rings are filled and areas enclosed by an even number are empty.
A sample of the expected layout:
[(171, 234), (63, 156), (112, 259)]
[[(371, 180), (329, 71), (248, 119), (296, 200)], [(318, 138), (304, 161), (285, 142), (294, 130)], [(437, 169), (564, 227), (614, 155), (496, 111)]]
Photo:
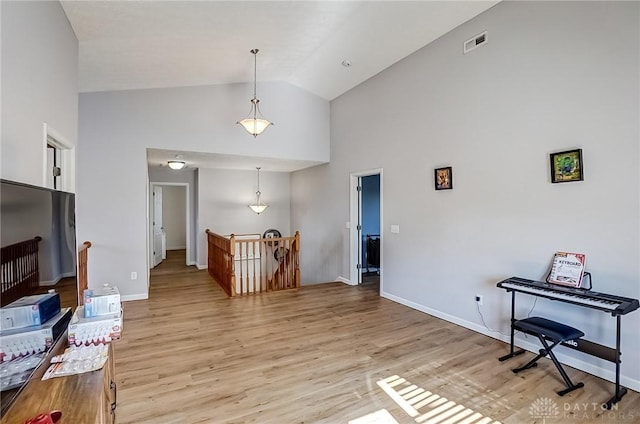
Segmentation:
[[(16, 297), (12, 289), (33, 268), (31, 251), (37, 245), (37, 278), (28, 294), (60, 294), (63, 308), (77, 307), (75, 195), (13, 181), (0, 180), (0, 244), (2, 247), (2, 305)], [(34, 240), (38, 240), (34, 242)], [(30, 244), (31, 243), (31, 244)], [(31, 255), (24, 261), (11, 257)], [(25, 271), (27, 269), (27, 271)], [(31, 279), (32, 280), (32, 279)], [(13, 291), (12, 291), (13, 290)], [(21, 292), (22, 293), (22, 292)], [(5, 296), (5, 294), (8, 294)], [(21, 297), (21, 296), (20, 296)], [(31, 377), (26, 378), (23, 385)], [(22, 387), (3, 390), (0, 416), (4, 414)]]

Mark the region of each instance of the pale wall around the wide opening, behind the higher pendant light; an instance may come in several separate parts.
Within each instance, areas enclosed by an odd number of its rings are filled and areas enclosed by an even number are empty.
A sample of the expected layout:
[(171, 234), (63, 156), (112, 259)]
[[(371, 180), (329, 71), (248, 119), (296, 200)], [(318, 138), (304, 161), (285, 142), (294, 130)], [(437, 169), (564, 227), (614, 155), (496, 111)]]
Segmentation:
[[(327, 101), (284, 83), (261, 83), (259, 93), (275, 125), (257, 139), (235, 124), (248, 112), (250, 84), (80, 95), (78, 237), (94, 243), (90, 285), (118, 284), (124, 299), (147, 296), (147, 148), (329, 159)], [(199, 254), (197, 261), (206, 263)]]

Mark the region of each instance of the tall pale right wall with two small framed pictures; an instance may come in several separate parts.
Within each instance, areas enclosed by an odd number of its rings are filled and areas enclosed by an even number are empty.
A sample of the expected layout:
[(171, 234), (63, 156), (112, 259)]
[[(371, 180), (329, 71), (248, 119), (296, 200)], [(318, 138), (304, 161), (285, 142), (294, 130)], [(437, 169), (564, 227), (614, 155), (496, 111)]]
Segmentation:
[[(507, 334), (509, 296), (496, 283), (544, 279), (568, 250), (586, 253), (595, 290), (639, 298), (639, 12), (638, 2), (502, 2), (334, 100), (330, 164), (292, 176), (303, 275), (348, 278), (349, 174), (383, 168), (385, 297), (502, 337), (483, 327), (474, 295)], [(488, 44), (463, 55), (485, 30)], [(571, 148), (583, 149), (585, 181), (551, 184), (549, 153)], [(454, 189), (435, 191), (433, 169), (447, 165)], [(519, 316), (532, 306), (523, 297)], [(533, 314), (615, 341), (601, 312), (539, 299)], [(623, 317), (623, 357), (640, 352), (639, 328), (640, 312)], [(613, 377), (612, 364), (563, 352)], [(622, 372), (640, 389), (640, 362)]]

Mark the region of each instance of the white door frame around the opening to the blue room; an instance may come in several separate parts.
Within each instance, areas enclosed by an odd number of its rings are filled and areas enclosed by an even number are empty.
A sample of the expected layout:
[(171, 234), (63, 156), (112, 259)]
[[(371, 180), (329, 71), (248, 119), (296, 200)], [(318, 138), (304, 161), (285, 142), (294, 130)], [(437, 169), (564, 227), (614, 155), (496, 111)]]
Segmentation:
[(380, 175), (380, 293), (382, 293), (383, 287), (383, 274), (384, 274), (384, 227), (382, 223), (383, 211), (384, 211), (384, 197), (383, 197), (383, 170), (382, 168), (369, 169), (365, 171), (352, 172), (349, 178), (349, 281), (351, 284), (356, 285), (361, 278), (361, 269), (358, 269), (358, 263), (361, 258), (358, 257), (359, 252), (362, 250), (362, 240), (358, 237), (358, 225), (360, 221), (360, 210), (358, 204), (358, 182), (362, 177), (368, 177), (371, 175)]

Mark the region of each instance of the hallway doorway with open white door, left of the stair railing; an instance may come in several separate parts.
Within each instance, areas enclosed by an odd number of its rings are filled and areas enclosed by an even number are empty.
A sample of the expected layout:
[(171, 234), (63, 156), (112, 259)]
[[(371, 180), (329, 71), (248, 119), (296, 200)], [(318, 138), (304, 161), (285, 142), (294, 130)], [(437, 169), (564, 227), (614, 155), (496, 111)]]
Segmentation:
[(189, 185), (151, 183), (149, 201), (149, 268), (167, 258), (167, 251), (184, 250), (185, 265), (191, 257)]

